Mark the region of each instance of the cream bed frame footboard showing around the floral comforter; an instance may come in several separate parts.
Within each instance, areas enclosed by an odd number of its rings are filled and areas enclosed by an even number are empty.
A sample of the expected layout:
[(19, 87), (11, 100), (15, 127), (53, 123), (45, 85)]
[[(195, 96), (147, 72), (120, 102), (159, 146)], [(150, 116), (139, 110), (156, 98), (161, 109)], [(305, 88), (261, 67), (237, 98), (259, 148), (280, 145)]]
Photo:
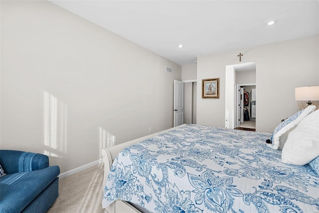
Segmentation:
[[(129, 147), (133, 144), (137, 144), (141, 141), (144, 141), (146, 139), (149, 138), (153, 138), (157, 135), (160, 135), (162, 133), (165, 132), (169, 132), (173, 129), (177, 129), (180, 127), (185, 126), (186, 124), (177, 126), (177, 127), (173, 127), (161, 132), (157, 132), (154, 133), (152, 135), (148, 135), (142, 138), (138, 138), (132, 141), (128, 141), (110, 148), (105, 148), (102, 149), (102, 156), (103, 156), (103, 162), (104, 162), (104, 178), (103, 178), (103, 185), (102, 185), (102, 191), (104, 191), (104, 187), (106, 185), (107, 179), (108, 179), (108, 175), (110, 173), (110, 169), (111, 166), (113, 164), (114, 159), (116, 158), (116, 156), (126, 147)], [(108, 206), (107, 208), (105, 208), (105, 213), (142, 213), (141, 211), (143, 211), (142, 209), (137, 210), (135, 207), (133, 207), (131, 204), (125, 202), (125, 201), (115, 201), (113, 202), (110, 206)]]

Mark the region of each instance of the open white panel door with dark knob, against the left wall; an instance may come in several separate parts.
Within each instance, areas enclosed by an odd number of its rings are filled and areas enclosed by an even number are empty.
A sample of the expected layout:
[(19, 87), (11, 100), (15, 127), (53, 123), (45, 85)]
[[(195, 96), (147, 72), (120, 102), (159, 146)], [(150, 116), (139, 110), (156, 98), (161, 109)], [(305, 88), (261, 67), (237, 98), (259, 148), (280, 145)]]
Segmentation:
[(184, 82), (174, 80), (174, 127), (184, 123)]

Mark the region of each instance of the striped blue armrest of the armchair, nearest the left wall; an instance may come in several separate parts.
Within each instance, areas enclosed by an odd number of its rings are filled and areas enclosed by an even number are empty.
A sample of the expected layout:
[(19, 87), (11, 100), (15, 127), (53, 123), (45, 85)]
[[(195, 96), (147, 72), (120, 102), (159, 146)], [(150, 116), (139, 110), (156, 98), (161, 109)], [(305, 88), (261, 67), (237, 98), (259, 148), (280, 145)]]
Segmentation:
[(38, 153), (0, 150), (0, 164), (6, 174), (28, 172), (48, 167), (49, 157)]

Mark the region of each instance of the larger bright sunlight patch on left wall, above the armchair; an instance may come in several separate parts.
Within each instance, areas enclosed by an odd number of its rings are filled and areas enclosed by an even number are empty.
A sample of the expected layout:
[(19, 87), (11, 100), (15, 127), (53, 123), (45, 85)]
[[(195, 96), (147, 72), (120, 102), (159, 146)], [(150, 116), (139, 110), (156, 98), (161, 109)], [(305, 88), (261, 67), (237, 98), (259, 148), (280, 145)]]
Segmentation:
[(67, 105), (43, 91), (44, 154), (62, 157), (67, 152)]

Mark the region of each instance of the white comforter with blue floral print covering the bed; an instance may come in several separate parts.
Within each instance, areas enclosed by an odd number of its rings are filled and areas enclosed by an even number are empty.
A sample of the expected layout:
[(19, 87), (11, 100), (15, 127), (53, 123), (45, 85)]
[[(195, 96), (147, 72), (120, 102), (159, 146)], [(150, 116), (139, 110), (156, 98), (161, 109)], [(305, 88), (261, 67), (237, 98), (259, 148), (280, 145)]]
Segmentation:
[(271, 134), (187, 125), (124, 149), (103, 208), (116, 200), (154, 213), (315, 213), (319, 176), (281, 163)]

